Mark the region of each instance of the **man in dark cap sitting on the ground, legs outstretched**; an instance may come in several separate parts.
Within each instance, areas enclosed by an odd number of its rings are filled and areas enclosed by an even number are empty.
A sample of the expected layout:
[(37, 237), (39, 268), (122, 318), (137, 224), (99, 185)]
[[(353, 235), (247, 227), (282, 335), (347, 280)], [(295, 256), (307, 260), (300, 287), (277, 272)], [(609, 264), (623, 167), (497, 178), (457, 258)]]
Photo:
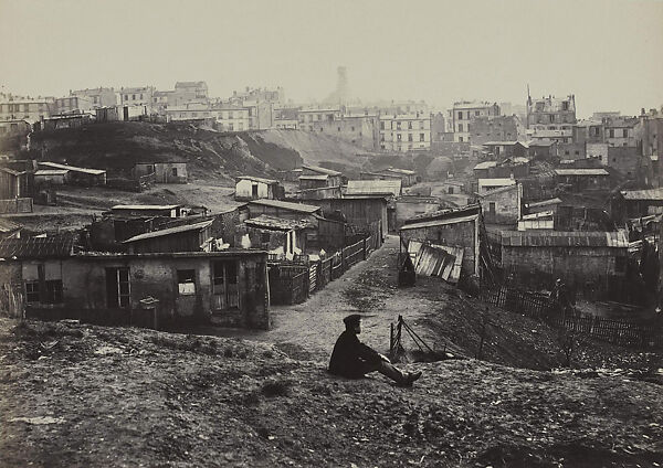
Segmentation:
[(361, 379), (369, 372), (378, 371), (403, 386), (412, 385), (412, 382), (421, 376), (421, 372), (401, 372), (391, 364), (386, 355), (359, 341), (357, 338), (357, 334), (361, 333), (361, 316), (359, 313), (352, 313), (343, 321), (346, 330), (340, 333), (334, 345), (329, 360), (329, 372), (348, 379)]

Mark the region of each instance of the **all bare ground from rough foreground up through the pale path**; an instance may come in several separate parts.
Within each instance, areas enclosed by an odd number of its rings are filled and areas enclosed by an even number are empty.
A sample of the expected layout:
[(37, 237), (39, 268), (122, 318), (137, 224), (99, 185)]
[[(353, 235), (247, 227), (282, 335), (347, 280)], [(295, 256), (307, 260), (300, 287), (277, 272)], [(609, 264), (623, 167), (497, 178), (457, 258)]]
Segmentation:
[[(434, 278), (397, 288), (397, 252), (390, 237), (305, 304), (273, 308), (265, 332), (0, 319), (0, 466), (663, 465), (663, 385), (645, 372), (660, 354), (586, 343), (576, 369), (558, 369), (554, 330)], [(399, 364), (424, 372), (410, 389), (332, 376), (356, 310), (379, 351), (402, 315), (464, 359)]]

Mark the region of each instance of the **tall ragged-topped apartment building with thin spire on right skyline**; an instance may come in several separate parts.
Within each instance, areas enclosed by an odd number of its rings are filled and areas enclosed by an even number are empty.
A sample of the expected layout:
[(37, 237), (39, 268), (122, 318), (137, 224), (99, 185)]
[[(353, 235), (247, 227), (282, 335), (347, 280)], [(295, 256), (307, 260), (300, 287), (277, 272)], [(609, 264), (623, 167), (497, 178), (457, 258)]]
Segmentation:
[(576, 125), (576, 96), (566, 98), (555, 96), (532, 99), (527, 97), (527, 130), (530, 139), (552, 140), (568, 143), (571, 141)]

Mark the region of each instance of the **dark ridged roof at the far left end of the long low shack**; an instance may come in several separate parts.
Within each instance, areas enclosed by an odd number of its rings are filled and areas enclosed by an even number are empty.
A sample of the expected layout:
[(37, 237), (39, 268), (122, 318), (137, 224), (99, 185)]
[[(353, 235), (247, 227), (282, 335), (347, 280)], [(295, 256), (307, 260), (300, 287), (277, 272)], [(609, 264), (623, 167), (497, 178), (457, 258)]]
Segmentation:
[(0, 240), (0, 258), (66, 258), (74, 254), (75, 234)]

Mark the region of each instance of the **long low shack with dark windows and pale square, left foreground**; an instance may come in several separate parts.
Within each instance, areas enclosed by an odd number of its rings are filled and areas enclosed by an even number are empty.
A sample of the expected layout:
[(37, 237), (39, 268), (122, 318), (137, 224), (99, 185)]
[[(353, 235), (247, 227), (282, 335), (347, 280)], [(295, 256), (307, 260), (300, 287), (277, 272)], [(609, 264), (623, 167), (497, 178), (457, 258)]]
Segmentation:
[[(24, 304), (30, 318), (158, 327), (191, 320), (269, 329), (267, 254), (255, 249), (74, 255), (73, 242), (0, 241), (1, 305)], [(11, 300), (10, 300), (11, 296)], [(141, 300), (144, 302), (141, 304)]]

